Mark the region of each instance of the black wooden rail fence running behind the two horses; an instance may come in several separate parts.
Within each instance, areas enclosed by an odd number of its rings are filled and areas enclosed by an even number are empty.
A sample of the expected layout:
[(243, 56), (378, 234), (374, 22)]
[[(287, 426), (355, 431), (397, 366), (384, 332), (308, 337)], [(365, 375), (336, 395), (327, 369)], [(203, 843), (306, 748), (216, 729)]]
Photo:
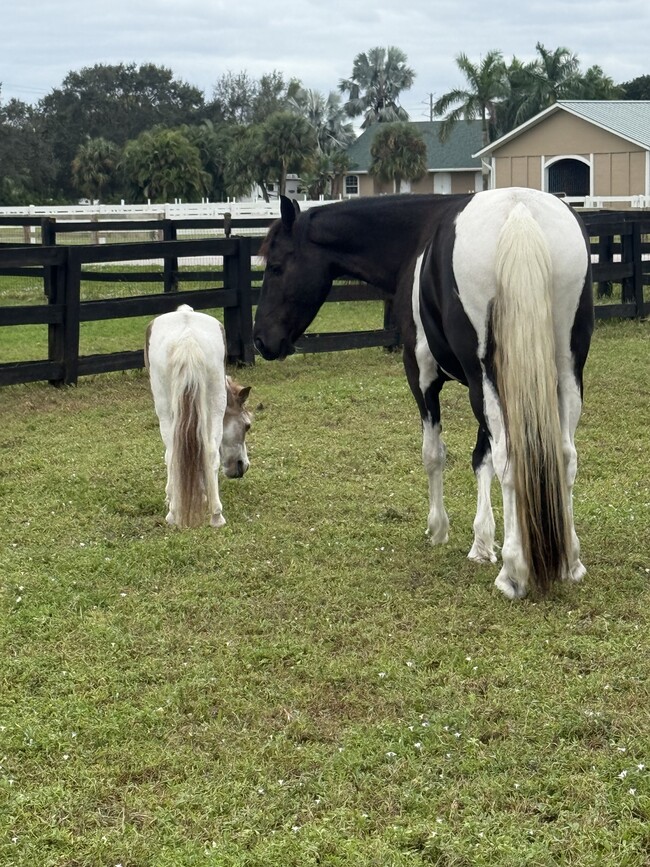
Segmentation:
[[(644, 286), (650, 285), (650, 212), (586, 213), (584, 221), (592, 238), (592, 252), (598, 253), (594, 265), (594, 283), (598, 296), (605, 300), (612, 284), (621, 285), (621, 299), (616, 303), (600, 303), (596, 315), (600, 318), (642, 317), (650, 313), (650, 303), (644, 299)], [(0, 220), (0, 225), (30, 225), (33, 218)], [(224, 220), (179, 220), (171, 224), (161, 221), (128, 221), (101, 223), (103, 230), (147, 232), (162, 231), (165, 240), (143, 243), (58, 245), (57, 234), (92, 232), (96, 226), (85, 223), (41, 223), (41, 246), (0, 245), (0, 277), (32, 276), (41, 279), (44, 301), (41, 304), (0, 307), (0, 326), (46, 325), (48, 357), (40, 361), (0, 363), (0, 385), (48, 380), (55, 385), (75, 383), (79, 376), (126, 370), (143, 366), (142, 350), (82, 356), (79, 353), (80, 325), (83, 322), (119, 319), (132, 316), (156, 316), (175, 309), (179, 303), (195, 309), (222, 308), (226, 330), (228, 361), (252, 364), (253, 307), (259, 297), (259, 271), (252, 260), (259, 250), (260, 237), (221, 237), (210, 240), (176, 240), (180, 229), (209, 228), (226, 230)], [(235, 221), (233, 221), (234, 223)], [(237, 225), (259, 227), (268, 220), (249, 218)], [(179, 267), (181, 257), (214, 257), (222, 265), (205, 270)], [(118, 262), (164, 262), (162, 273), (133, 269), (127, 272), (89, 270), (88, 265)], [(101, 280), (149, 282), (161, 285), (156, 294), (128, 298), (81, 300), (82, 281)], [(191, 282), (213, 284), (213, 288), (185, 288)], [(182, 292), (179, 290), (183, 290)], [(328, 301), (377, 300), (379, 290), (366, 284), (337, 284)], [(1, 332), (0, 332), (1, 334)], [(302, 352), (338, 351), (367, 346), (396, 347), (399, 334), (390, 320), (390, 309), (384, 315), (384, 327), (372, 331), (305, 335), (298, 344)], [(0, 341), (1, 357), (1, 341)]]

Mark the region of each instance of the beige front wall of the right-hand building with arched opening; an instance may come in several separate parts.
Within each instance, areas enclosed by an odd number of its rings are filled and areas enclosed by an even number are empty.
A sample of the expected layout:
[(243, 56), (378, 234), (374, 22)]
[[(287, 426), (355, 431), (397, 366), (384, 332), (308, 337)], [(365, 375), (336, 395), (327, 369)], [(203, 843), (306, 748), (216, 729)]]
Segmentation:
[(571, 156), (591, 163), (593, 195), (645, 193), (643, 148), (565, 111), (550, 115), (493, 152), (494, 185), (544, 189), (543, 167), (554, 157)]

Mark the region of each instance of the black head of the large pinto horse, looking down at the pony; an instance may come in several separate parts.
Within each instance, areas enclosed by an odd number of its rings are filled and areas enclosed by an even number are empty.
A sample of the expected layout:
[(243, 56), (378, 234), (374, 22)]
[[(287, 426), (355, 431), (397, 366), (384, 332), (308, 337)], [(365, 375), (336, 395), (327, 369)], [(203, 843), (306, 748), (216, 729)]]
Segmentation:
[(285, 358), (316, 316), (332, 284), (326, 251), (307, 237), (298, 203), (280, 200), (281, 218), (260, 250), (266, 259), (253, 338), (266, 359)]

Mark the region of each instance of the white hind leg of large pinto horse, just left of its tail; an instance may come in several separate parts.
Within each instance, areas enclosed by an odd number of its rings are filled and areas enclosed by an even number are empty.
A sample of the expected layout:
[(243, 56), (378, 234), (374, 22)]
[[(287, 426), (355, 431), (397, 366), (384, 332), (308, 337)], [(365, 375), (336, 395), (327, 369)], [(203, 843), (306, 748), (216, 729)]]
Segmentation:
[(485, 395), (485, 416), (491, 434), (492, 463), (503, 495), (503, 548), (501, 549), (503, 566), (494, 583), (508, 599), (521, 599), (528, 593), (529, 572), (521, 543), (519, 519), (517, 518), (512, 463), (508, 460), (508, 446), (501, 407), (494, 389), (487, 379), (483, 382), (483, 393)]

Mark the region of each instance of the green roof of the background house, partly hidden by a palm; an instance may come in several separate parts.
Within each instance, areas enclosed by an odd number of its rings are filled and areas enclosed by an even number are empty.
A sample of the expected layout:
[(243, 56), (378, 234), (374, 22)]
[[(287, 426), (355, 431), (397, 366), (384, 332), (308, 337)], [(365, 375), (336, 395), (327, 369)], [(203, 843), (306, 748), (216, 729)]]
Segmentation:
[[(477, 170), (481, 161), (472, 154), (481, 147), (481, 121), (458, 121), (445, 142), (439, 139), (441, 120), (412, 121), (427, 146), (427, 166), (429, 171), (452, 171), (459, 169)], [(349, 173), (367, 172), (370, 168), (370, 148), (381, 124), (375, 123), (365, 129), (356, 141), (348, 147), (350, 158)]]

